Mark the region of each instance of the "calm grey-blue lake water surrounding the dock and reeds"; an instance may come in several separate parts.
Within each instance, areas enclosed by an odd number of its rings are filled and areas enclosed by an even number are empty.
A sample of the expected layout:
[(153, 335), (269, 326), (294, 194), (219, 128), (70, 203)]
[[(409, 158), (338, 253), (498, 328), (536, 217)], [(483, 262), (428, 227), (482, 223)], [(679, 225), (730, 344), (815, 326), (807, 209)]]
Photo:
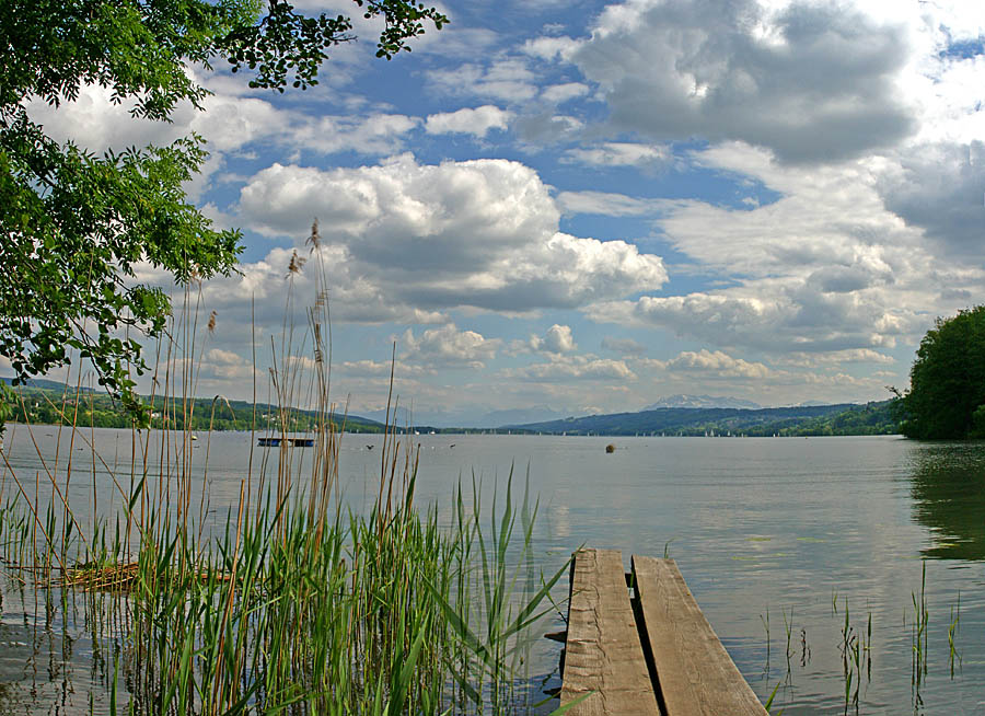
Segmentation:
[[(57, 430), (42, 428), (35, 439), (50, 463)], [(95, 492), (100, 511), (118, 506), (106, 469), (78, 442), (68, 451), (66, 441), (63, 434), (59, 469), (71, 452), (72, 499), (91, 503)], [(96, 430), (95, 441), (108, 465), (129, 464), (128, 432)], [(194, 450), (199, 471), (205, 441)], [(627, 565), (634, 552), (659, 556), (667, 550), (760, 697), (780, 684), (774, 704), (785, 714), (845, 713), (846, 610), (848, 636), (861, 634), (869, 646), (861, 673), (848, 667), (851, 693), (859, 686), (858, 713), (985, 714), (985, 443), (893, 437), (414, 441), (420, 443), (419, 505), (448, 506), (452, 487), (473, 474), (488, 504), (495, 485), (502, 496), (511, 466), (521, 484), (529, 473), (540, 498), (535, 547), (545, 569), (581, 544), (621, 548)], [(609, 442), (617, 447), (614, 454), (604, 451)], [(374, 494), (379, 443), (378, 436), (344, 439), (343, 483), (356, 508)], [(5, 450), (33, 489), (43, 465), (23, 429), (8, 435)], [(213, 435), (208, 452), (207, 511), (221, 523), (239, 496), (250, 436)], [(262, 458), (254, 452), (255, 469)], [(4, 494), (14, 488), (4, 476)], [(929, 655), (917, 690), (912, 600), (919, 597), (922, 564)], [(559, 596), (566, 593), (559, 585)], [(105, 688), (90, 685), (105, 681), (105, 665), (94, 662), (84, 634), (58, 620), (30, 593), (4, 592), (0, 713), (88, 712), (90, 698), (96, 712), (105, 707)], [(558, 617), (543, 628), (563, 626)], [(532, 665), (537, 688), (559, 684), (556, 660), (556, 645), (545, 640)]]

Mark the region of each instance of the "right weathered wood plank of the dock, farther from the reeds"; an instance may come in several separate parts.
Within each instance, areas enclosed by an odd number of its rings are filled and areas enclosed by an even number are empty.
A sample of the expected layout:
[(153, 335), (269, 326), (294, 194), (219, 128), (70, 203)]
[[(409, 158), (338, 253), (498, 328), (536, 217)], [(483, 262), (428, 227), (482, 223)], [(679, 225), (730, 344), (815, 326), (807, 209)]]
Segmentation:
[(634, 555), (633, 573), (668, 716), (765, 716), (676, 563)]

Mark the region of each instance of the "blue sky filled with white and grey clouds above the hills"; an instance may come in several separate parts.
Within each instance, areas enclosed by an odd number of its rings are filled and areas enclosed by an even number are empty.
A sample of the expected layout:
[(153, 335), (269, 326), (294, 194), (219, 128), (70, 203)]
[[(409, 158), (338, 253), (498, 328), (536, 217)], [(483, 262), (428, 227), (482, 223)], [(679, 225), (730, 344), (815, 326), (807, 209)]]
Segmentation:
[(195, 288), (199, 395), (267, 394), (316, 265), (333, 397), (383, 408), (395, 350), (401, 404), (442, 425), (884, 400), (985, 302), (980, 0), (470, 0), (392, 61), (352, 2), (296, 4), (356, 14), (312, 90), (189, 68), (213, 94), (172, 124), (97, 86), (27, 101), (93, 151), (208, 140), (188, 193), (244, 252)]

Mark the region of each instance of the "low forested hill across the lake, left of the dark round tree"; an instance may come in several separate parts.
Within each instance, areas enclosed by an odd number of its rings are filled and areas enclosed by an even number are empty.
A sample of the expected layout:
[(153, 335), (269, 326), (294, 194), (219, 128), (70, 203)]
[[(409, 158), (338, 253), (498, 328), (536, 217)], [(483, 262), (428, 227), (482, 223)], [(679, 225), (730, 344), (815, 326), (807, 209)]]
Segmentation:
[(892, 401), (856, 405), (767, 407), (758, 411), (667, 407), (640, 413), (589, 415), (507, 426), (514, 432), (567, 435), (822, 436), (892, 435), (899, 426)]

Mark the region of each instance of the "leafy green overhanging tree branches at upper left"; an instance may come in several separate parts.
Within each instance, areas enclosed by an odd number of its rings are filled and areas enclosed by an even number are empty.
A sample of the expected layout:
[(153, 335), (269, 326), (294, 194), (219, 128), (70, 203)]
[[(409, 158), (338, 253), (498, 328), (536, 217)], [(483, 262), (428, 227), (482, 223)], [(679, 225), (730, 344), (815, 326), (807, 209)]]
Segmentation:
[[(413, 0), (352, 0), (384, 22), (376, 56), (448, 22)], [(74, 350), (100, 383), (138, 414), (132, 370), (146, 370), (139, 336), (154, 337), (171, 307), (136, 282), (149, 262), (187, 284), (235, 270), (237, 231), (217, 231), (182, 189), (207, 152), (198, 136), (167, 147), (95, 157), (59, 143), (24, 100), (59, 105), (85, 84), (113, 91), (130, 113), (167, 122), (175, 105), (201, 108), (208, 91), (186, 66), (220, 60), (248, 83), (283, 92), (317, 83), (327, 50), (355, 39), (349, 18), (305, 16), (286, 0), (5, 0), (0, 13), (0, 355), (16, 382), (70, 362)], [(0, 391), (0, 429), (10, 394)]]

